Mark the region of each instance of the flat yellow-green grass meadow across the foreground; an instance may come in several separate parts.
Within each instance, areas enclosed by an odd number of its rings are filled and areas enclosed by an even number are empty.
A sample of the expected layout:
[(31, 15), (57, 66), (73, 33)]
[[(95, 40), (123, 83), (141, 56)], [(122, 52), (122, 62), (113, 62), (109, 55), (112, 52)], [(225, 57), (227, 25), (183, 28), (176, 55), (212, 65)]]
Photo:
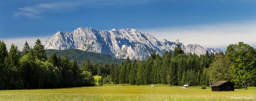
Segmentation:
[[(235, 89), (233, 92), (211, 92), (211, 88), (201, 87), (169, 87), (168, 85), (122, 84), (108, 86), (91, 86), (61, 89), (34, 89), (34, 90), (0, 90), (0, 101), (255, 101), (256, 87)], [(235, 97), (254, 97), (254, 99), (231, 99)]]

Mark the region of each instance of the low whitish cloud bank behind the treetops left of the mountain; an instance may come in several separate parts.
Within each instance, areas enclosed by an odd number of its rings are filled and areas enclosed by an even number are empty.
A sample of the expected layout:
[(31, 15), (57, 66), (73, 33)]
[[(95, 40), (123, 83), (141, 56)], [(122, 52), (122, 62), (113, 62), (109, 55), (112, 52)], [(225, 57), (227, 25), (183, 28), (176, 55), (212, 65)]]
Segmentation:
[(7, 47), (8, 51), (10, 50), (10, 47), (11, 47), (12, 43), (14, 43), (14, 45), (17, 45), (18, 49), (20, 51), (22, 51), (22, 48), (23, 48), (26, 41), (27, 41), (27, 43), (29, 43), (29, 46), (34, 47), (35, 41), (37, 41), (37, 39), (39, 39), (41, 41), (42, 45), (45, 45), (45, 41), (49, 38), (50, 38), (50, 36), (21, 37), (21, 38), (15, 37), (15, 38), (6, 38), (6, 39), (3, 39), (3, 40), (4, 40), (4, 43), (6, 44), (6, 47)]

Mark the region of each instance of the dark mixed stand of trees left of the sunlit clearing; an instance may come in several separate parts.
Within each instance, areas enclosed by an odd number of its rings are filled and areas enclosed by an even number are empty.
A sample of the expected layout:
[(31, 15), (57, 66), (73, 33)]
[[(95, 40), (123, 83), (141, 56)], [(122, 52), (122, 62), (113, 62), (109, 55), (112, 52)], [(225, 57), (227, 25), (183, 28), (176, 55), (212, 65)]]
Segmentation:
[(67, 55), (52, 53), (46, 57), (39, 39), (34, 47), (26, 41), (22, 52), (14, 44), (8, 52), (4, 41), (0, 41), (0, 90), (92, 86), (93, 74), (87, 70), (79, 68)]

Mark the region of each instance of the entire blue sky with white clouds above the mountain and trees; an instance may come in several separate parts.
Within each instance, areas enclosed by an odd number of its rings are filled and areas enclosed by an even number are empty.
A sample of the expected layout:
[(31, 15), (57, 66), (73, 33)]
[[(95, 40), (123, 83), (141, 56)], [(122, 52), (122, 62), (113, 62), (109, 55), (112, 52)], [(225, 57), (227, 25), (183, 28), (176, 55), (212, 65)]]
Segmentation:
[(256, 48), (255, 0), (1, 0), (0, 38), (22, 49), (57, 31), (135, 28), (157, 39), (226, 49)]

